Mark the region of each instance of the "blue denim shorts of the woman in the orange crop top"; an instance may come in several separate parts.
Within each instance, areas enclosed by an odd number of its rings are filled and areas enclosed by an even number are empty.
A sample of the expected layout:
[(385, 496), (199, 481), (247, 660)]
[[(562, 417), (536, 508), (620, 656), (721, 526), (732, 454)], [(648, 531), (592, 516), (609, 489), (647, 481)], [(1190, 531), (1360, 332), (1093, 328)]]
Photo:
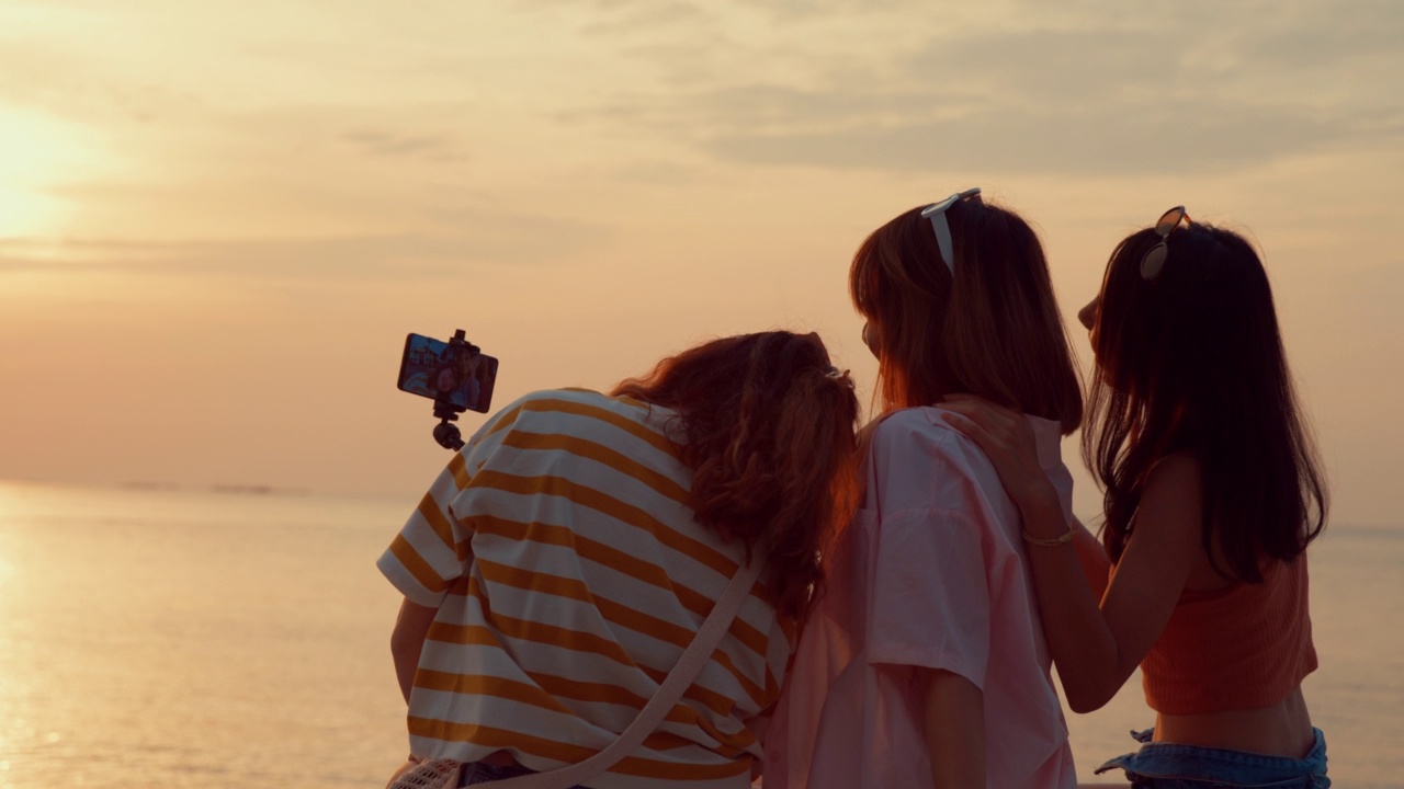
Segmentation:
[(1101, 775), (1122, 768), (1126, 779), (1139, 789), (1238, 789), (1272, 786), (1273, 789), (1325, 789), (1325, 736), (1316, 731), (1316, 744), (1306, 758), (1273, 757), (1226, 748), (1200, 748), (1175, 743), (1153, 743), (1154, 729), (1132, 731), (1141, 743), (1126, 754), (1097, 768)]

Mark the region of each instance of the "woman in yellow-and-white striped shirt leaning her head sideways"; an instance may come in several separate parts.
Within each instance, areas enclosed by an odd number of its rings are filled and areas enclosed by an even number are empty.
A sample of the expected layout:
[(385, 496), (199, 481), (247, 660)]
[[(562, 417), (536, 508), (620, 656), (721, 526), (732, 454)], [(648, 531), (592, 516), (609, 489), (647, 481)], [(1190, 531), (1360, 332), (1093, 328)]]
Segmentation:
[(856, 418), (819, 337), (788, 331), (497, 413), (379, 560), (406, 598), (392, 650), (411, 762), (466, 785), (605, 750), (755, 557), (760, 580), (696, 679), (588, 781), (748, 786), (820, 552), (852, 510)]

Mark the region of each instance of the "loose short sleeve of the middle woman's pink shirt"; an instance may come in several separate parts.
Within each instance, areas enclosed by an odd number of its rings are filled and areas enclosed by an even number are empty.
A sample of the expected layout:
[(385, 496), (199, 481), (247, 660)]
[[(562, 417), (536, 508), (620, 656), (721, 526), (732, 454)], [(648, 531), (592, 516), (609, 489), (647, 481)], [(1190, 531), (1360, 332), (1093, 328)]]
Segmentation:
[(955, 510), (907, 510), (876, 535), (869, 661), (939, 668), (983, 689), (991, 606), (977, 524)]

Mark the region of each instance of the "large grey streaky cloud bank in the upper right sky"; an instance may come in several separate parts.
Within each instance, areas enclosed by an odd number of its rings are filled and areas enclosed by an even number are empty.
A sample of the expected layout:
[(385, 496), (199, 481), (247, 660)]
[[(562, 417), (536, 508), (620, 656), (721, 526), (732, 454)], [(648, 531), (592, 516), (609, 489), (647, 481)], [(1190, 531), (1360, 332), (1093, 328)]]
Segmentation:
[[(852, 4), (821, 6), (854, 13)], [(931, 24), (924, 37), (893, 29), (862, 55), (828, 58), (830, 41), (806, 48), (790, 39), (758, 55), (731, 37), (713, 60), (755, 59), (731, 77), (701, 73), (685, 48), (654, 45), (633, 55), (651, 58), (658, 73), (694, 79), (619, 93), (569, 119), (653, 128), (746, 166), (1129, 175), (1245, 168), (1325, 147), (1398, 143), (1404, 107), (1390, 74), (1404, 70), (1404, 15), (1386, 6), (1192, 4), (1160, 17), (1097, 0), (1057, 15), (1029, 6), (1028, 18), (1002, 25)], [(906, 24), (920, 31), (921, 17)]]

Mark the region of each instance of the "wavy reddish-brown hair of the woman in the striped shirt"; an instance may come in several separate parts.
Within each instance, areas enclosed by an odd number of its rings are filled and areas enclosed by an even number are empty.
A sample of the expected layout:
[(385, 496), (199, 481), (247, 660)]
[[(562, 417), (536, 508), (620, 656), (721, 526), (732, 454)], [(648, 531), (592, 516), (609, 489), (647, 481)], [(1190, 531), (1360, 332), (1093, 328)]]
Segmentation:
[(702, 525), (768, 555), (767, 583), (800, 616), (823, 583), (820, 555), (856, 505), (858, 400), (817, 334), (713, 340), (626, 379), (611, 394), (671, 409)]

